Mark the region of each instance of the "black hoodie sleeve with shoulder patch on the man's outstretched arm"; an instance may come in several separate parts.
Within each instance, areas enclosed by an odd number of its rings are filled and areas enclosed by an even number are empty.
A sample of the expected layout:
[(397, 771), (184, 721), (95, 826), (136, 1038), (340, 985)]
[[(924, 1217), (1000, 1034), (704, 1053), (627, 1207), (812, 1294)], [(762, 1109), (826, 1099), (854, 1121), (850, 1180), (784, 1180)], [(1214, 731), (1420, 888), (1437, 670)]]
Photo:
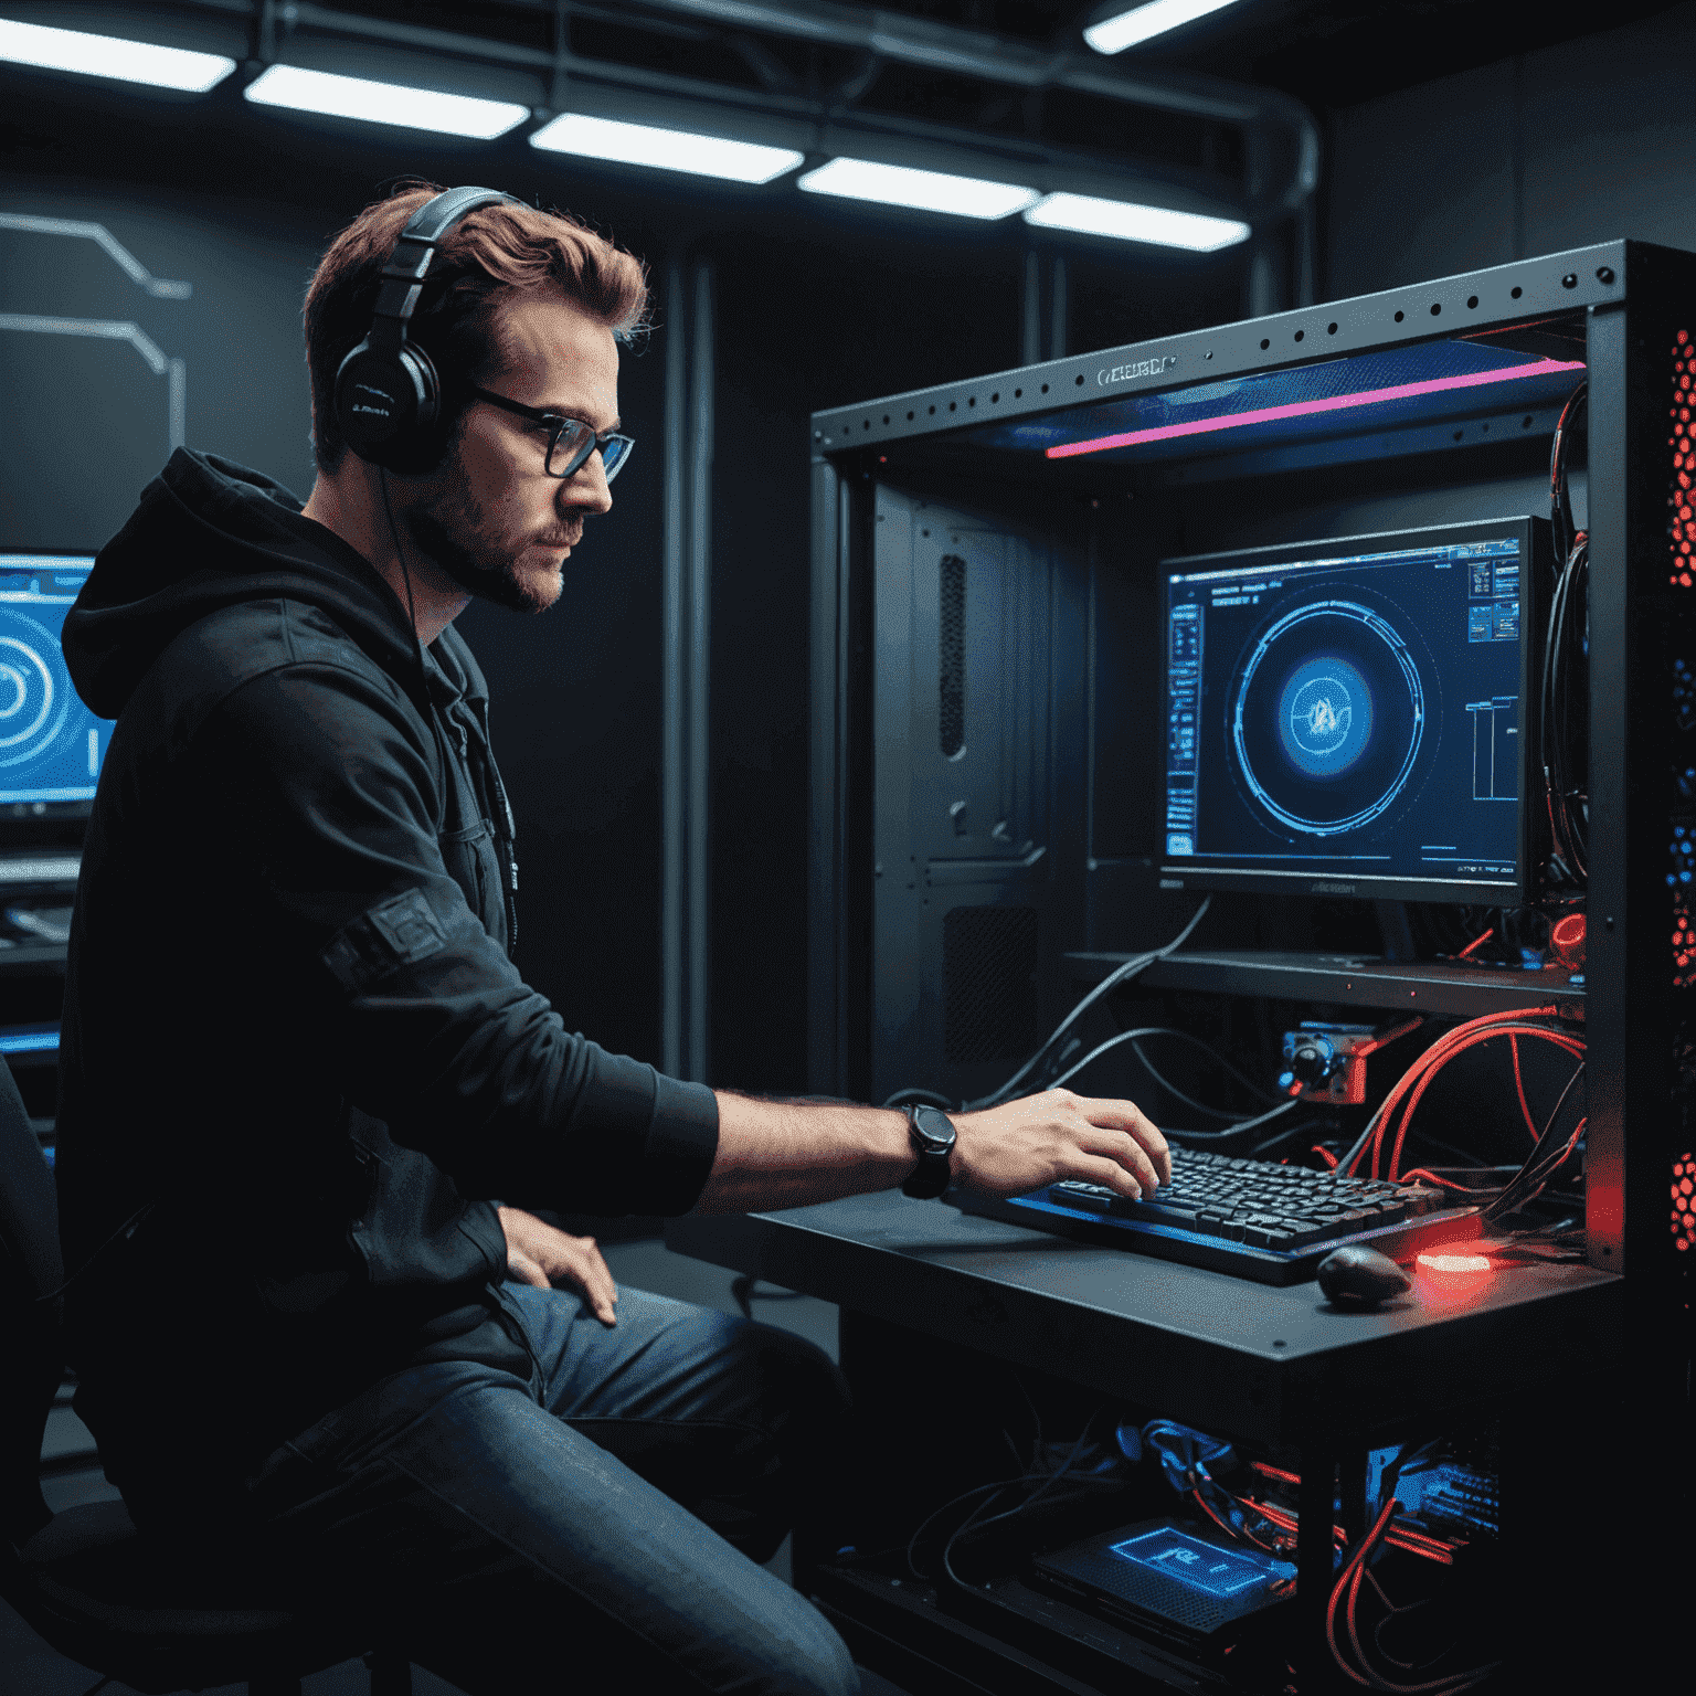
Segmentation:
[(239, 773), (214, 829), (251, 879), (251, 945), (341, 1094), (463, 1194), (687, 1213), (712, 1091), (568, 1033), (524, 984), (446, 870), (421, 731), (392, 685), (331, 665), (256, 677), (204, 721), (190, 763)]

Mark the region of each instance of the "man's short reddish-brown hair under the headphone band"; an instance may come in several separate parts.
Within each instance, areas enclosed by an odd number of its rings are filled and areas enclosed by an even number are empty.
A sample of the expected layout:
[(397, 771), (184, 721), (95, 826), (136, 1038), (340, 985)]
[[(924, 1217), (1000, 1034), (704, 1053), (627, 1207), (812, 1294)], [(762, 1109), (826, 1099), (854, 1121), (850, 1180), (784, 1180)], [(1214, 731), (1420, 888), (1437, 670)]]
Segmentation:
[[(371, 329), (378, 278), (407, 219), (434, 183), (405, 183), (368, 205), (336, 239), (307, 288), (307, 370), (312, 377), (312, 456), (334, 471), (344, 443), (336, 426), (336, 371)], [(646, 322), (644, 266), (566, 212), (514, 200), (468, 212), (436, 249), (409, 336), (429, 353), (444, 402), (455, 382), (487, 382), (504, 370), (500, 305), (512, 293), (556, 288), (628, 341)]]

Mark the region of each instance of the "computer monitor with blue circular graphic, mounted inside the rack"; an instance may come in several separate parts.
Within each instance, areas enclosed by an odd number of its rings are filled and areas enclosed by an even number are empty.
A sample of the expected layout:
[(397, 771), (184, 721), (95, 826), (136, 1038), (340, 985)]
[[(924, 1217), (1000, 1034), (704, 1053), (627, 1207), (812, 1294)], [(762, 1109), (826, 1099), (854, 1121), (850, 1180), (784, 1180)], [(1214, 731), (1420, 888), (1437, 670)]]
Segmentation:
[(1163, 887), (1530, 899), (1545, 538), (1506, 517), (1167, 560)]

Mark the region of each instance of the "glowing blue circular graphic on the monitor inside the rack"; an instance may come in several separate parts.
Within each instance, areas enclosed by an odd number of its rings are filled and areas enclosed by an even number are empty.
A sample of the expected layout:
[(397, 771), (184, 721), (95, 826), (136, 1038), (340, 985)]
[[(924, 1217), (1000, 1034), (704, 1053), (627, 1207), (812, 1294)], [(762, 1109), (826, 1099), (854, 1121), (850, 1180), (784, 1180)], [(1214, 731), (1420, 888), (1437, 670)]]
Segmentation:
[(1275, 824), (1338, 836), (1403, 792), (1425, 726), (1420, 670), (1389, 619), (1355, 600), (1319, 600), (1248, 650), (1230, 734), (1248, 794)]

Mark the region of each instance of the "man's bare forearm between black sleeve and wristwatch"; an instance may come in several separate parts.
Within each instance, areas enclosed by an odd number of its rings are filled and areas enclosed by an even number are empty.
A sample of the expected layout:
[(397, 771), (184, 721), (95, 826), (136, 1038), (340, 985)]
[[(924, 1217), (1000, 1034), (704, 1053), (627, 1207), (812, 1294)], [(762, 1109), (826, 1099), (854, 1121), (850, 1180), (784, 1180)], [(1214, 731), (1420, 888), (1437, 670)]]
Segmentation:
[(719, 1152), (695, 1213), (806, 1208), (904, 1184), (919, 1163), (894, 1107), (753, 1101), (717, 1091)]

